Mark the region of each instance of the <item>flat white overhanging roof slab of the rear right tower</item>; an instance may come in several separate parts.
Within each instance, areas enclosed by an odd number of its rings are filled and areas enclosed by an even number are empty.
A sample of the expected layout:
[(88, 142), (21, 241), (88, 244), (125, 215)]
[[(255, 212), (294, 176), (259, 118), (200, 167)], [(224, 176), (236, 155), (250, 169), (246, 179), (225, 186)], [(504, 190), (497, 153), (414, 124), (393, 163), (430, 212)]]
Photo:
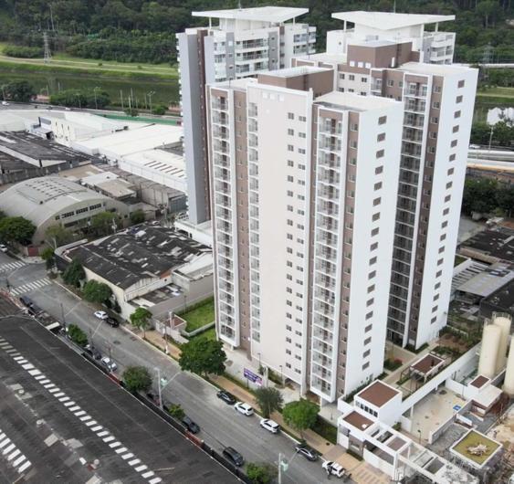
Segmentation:
[(395, 30), (410, 26), (425, 26), (438, 22), (455, 20), (455, 16), (434, 16), (418, 14), (396, 14), (392, 12), (365, 12), (354, 10), (332, 14), (332, 18), (351, 22), (356, 26), (368, 26), (377, 30)]

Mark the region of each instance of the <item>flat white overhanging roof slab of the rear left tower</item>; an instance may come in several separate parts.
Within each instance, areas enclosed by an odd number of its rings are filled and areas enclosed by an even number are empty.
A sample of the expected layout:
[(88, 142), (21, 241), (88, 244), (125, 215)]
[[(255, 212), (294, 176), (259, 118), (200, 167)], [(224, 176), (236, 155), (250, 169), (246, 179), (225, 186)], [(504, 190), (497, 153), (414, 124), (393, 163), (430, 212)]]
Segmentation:
[(226, 10), (207, 10), (204, 12), (192, 12), (192, 16), (208, 18), (223, 18), (227, 20), (249, 20), (267, 23), (283, 23), (297, 16), (303, 16), (309, 12), (309, 8), (295, 8), (290, 6), (256, 6), (253, 8), (233, 8)]

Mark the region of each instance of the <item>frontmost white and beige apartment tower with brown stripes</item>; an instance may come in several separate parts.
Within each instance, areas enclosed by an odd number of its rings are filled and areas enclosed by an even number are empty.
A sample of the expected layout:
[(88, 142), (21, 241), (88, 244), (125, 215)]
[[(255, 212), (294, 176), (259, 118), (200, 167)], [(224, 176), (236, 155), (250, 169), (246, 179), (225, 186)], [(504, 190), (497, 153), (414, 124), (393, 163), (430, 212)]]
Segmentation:
[(207, 87), (219, 337), (324, 402), (383, 371), (404, 118), (333, 76)]

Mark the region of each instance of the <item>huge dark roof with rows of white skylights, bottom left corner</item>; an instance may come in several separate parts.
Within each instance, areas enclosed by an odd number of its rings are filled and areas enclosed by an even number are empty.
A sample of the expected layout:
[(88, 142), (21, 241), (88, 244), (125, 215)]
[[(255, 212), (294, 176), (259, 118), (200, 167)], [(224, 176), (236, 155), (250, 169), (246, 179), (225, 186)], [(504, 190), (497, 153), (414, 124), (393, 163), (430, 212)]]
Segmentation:
[[(0, 372), (0, 446), (5, 433), (19, 450), (12, 462), (30, 461), (27, 482), (236, 482), (30, 318), (0, 321)], [(11, 461), (0, 468), (7, 482), (19, 473)]]

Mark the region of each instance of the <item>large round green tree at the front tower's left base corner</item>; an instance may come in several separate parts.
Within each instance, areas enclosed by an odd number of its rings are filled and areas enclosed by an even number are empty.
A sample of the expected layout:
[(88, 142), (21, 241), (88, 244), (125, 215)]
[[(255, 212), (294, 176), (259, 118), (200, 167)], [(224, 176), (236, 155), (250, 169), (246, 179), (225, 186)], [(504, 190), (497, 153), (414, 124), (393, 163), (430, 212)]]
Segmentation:
[(181, 350), (179, 364), (182, 370), (205, 376), (225, 372), (226, 352), (222, 342), (200, 336), (186, 342)]

